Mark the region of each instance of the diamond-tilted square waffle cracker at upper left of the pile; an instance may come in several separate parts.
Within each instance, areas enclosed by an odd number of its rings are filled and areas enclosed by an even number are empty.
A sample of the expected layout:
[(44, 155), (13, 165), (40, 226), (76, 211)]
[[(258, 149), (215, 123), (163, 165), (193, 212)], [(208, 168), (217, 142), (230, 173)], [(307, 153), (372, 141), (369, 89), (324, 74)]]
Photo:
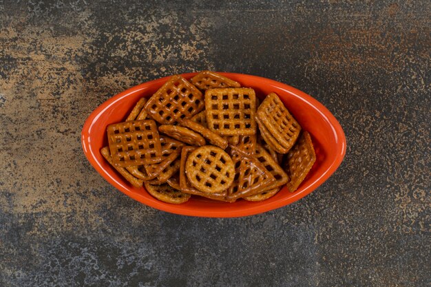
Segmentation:
[(200, 90), (182, 76), (176, 75), (151, 96), (145, 110), (162, 125), (191, 118), (204, 109), (204, 97)]

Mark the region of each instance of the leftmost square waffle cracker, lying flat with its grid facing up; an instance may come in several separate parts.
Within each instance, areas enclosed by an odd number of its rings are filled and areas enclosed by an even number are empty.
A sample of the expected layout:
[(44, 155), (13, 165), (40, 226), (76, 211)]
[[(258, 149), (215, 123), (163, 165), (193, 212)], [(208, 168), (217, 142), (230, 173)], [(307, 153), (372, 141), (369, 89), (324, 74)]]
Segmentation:
[(134, 120), (107, 127), (109, 150), (118, 167), (162, 160), (160, 136), (154, 120)]

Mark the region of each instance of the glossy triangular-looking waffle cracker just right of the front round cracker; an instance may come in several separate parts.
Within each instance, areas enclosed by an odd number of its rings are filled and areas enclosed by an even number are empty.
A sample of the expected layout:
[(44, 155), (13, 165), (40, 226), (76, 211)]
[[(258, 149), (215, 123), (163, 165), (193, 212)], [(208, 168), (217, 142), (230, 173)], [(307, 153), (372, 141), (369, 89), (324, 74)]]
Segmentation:
[(228, 189), (229, 200), (260, 193), (275, 181), (273, 175), (266, 171), (264, 165), (256, 158), (246, 156), (235, 147), (231, 147), (231, 157), (235, 164), (235, 178)]

